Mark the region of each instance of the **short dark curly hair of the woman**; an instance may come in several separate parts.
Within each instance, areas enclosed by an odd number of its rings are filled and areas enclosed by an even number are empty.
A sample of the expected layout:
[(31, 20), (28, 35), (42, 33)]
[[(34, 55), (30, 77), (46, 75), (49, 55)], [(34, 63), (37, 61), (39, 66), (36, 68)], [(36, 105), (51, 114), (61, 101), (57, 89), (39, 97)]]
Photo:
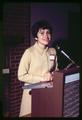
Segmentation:
[(52, 34), (52, 27), (51, 25), (48, 23), (48, 21), (46, 20), (40, 20), (36, 23), (33, 24), (31, 31), (32, 31), (32, 35), (33, 37), (37, 37), (37, 32), (38, 30), (42, 28), (42, 29), (49, 29), (50, 30), (50, 34)]

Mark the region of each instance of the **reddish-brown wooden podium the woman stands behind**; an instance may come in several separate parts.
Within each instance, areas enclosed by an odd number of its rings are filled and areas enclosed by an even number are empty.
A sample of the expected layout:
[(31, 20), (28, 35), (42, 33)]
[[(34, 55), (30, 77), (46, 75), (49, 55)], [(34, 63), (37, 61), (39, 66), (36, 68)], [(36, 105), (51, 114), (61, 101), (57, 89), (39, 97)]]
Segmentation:
[(79, 68), (54, 72), (53, 87), (32, 89), (32, 117), (79, 116)]

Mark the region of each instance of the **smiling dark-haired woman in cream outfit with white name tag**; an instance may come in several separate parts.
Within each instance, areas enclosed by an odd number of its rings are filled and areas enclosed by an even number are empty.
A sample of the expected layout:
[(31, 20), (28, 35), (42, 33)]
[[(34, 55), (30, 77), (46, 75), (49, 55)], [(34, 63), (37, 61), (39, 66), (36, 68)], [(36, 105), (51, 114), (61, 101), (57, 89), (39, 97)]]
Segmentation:
[[(54, 48), (49, 48), (52, 28), (47, 21), (38, 21), (32, 26), (35, 44), (25, 50), (18, 68), (18, 79), (26, 84), (50, 81), (52, 72), (58, 70), (57, 55)], [(30, 90), (24, 89), (20, 117), (31, 116)]]

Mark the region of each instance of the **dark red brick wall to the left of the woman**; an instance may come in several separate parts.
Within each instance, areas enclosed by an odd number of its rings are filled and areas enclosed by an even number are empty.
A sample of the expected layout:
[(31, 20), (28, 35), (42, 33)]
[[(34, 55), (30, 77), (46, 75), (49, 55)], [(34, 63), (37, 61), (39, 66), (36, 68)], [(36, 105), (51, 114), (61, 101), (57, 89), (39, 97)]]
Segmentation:
[[(4, 117), (19, 116), (23, 83), (18, 81), (17, 71), (21, 56), (30, 45), (29, 7), (29, 4), (21, 2), (3, 4), (0, 26), (0, 111)], [(4, 69), (9, 72), (4, 73)]]

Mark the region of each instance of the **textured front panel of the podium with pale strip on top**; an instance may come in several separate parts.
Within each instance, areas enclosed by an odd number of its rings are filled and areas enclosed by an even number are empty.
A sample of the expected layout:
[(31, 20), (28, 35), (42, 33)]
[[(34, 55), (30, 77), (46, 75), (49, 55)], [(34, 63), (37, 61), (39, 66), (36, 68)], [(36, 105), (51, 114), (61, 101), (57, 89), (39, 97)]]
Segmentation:
[(79, 82), (80, 74), (75, 73), (67, 76), (64, 85), (64, 117), (79, 116)]

